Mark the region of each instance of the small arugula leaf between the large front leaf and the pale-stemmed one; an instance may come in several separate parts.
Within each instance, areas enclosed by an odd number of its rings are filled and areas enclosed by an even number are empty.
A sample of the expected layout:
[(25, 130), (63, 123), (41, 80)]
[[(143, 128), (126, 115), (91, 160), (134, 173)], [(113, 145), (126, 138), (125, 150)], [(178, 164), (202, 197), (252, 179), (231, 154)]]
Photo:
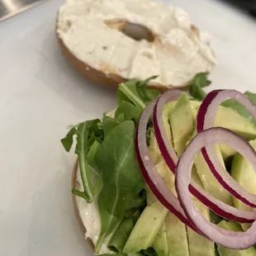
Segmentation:
[(116, 109), (115, 118), (118, 121), (132, 120), (138, 123), (142, 110), (130, 102), (119, 102), (119, 107)]

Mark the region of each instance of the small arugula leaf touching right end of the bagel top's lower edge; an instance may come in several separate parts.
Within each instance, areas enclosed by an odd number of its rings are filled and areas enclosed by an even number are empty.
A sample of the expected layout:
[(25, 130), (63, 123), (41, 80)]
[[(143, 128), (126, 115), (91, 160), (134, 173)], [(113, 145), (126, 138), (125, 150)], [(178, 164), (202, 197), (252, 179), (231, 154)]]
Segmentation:
[(211, 81), (206, 78), (208, 73), (197, 73), (189, 85), (189, 94), (199, 101), (206, 97), (206, 92), (202, 89), (211, 84)]

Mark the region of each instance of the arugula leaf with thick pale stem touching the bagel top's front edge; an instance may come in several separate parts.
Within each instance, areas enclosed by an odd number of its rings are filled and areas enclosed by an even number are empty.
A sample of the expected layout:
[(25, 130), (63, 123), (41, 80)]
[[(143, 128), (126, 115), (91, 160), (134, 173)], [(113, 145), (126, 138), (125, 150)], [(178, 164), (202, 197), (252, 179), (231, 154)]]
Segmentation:
[(132, 79), (126, 83), (121, 83), (117, 89), (118, 104), (120, 102), (131, 102), (143, 110), (149, 102), (159, 96), (159, 91), (146, 88), (149, 81), (154, 78), (156, 77), (148, 78), (145, 81)]

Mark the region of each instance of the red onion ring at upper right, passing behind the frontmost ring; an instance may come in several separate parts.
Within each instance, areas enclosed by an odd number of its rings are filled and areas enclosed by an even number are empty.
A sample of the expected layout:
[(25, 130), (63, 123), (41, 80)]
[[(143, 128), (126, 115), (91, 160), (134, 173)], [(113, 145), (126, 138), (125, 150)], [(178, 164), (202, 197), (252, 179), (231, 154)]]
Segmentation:
[[(234, 99), (246, 107), (250, 115), (253, 116), (254, 121), (256, 121), (256, 107), (243, 93), (235, 90), (216, 90), (208, 93), (205, 100), (201, 103), (197, 115), (197, 133), (214, 126), (217, 108), (221, 102), (224, 102), (228, 98)], [(216, 156), (214, 145), (202, 148), (201, 153), (211, 172), (222, 187), (225, 187), (232, 196), (244, 202), (244, 204), (256, 207), (256, 195), (246, 191), (244, 187), (236, 183), (230, 174), (225, 171)], [(254, 171), (256, 172), (256, 169)]]

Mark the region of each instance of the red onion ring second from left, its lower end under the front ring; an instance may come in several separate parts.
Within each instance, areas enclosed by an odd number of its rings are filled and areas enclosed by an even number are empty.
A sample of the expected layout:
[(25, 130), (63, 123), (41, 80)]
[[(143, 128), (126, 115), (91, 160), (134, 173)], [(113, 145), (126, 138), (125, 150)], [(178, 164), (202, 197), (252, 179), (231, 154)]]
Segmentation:
[[(163, 109), (166, 102), (177, 100), (180, 94), (180, 91), (174, 89), (164, 92), (155, 104), (153, 114), (154, 132), (160, 152), (163, 155), (168, 168), (173, 173), (175, 173), (176, 165), (178, 163), (178, 156), (175, 153), (173, 146), (169, 143), (164, 130)], [(211, 211), (214, 211), (218, 216), (240, 223), (252, 223), (256, 220), (256, 211), (240, 211), (233, 206), (226, 205), (224, 202), (208, 194), (193, 180), (191, 181), (189, 190), (194, 197), (197, 197), (201, 203), (210, 208)]]

